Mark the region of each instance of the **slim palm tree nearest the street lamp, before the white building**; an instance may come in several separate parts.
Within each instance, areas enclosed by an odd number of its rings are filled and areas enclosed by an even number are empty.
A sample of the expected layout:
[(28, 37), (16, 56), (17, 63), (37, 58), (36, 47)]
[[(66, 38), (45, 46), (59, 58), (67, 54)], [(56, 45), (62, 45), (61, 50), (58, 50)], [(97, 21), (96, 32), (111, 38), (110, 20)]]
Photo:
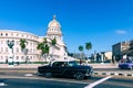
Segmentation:
[(25, 41), (25, 38), (20, 38), (20, 47), (21, 47), (22, 53), (25, 56), (25, 63), (27, 63), (27, 54), (28, 54), (28, 48), (25, 48), (27, 43), (28, 42)]

